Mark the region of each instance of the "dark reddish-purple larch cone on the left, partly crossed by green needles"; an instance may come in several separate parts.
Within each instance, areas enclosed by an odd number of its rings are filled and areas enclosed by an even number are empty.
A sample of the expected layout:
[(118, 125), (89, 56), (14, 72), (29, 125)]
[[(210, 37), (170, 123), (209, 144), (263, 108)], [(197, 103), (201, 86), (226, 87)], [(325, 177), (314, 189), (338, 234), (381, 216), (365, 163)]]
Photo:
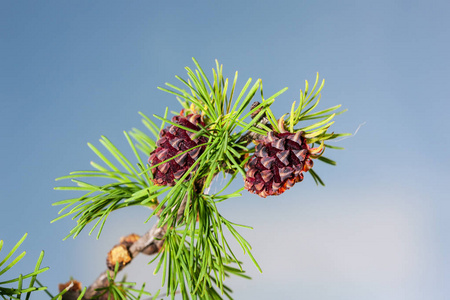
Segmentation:
[[(201, 120), (201, 115), (189, 114), (186, 117), (183, 115), (174, 116), (172, 122), (189, 129), (199, 131), (201, 128), (197, 126), (205, 126)], [(161, 162), (173, 158), (174, 156), (194, 148), (195, 146), (204, 144), (208, 139), (204, 136), (196, 136), (195, 132), (188, 131), (171, 125), (161, 130), (159, 133), (159, 140), (156, 142), (157, 148), (150, 153), (149, 162), (151, 166), (155, 166)], [(156, 185), (175, 185), (175, 180), (180, 179), (187, 170), (199, 158), (201, 153), (205, 150), (205, 146), (197, 147), (183, 153), (174, 159), (158, 165), (151, 169), (153, 174), (153, 183)], [(189, 180), (189, 174), (186, 180)]]

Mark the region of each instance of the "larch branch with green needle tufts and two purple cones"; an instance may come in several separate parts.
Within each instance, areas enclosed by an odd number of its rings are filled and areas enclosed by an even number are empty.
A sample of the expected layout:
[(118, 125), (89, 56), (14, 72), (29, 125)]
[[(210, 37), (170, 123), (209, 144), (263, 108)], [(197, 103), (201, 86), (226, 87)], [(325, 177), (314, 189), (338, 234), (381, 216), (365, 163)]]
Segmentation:
[[(125, 133), (134, 159), (126, 158), (106, 137), (100, 142), (119, 165), (89, 144), (104, 164), (92, 163), (95, 171), (78, 171), (60, 178), (72, 179), (77, 186), (57, 189), (84, 190), (86, 194), (56, 203), (65, 205), (60, 213), (70, 208), (57, 219), (73, 216), (77, 220), (68, 235), (74, 237), (97, 220), (91, 232), (100, 225), (99, 236), (113, 211), (135, 205), (151, 208), (148, 220), (155, 217), (159, 221), (133, 243), (121, 246), (128, 254), (126, 264), (138, 253), (156, 254), (154, 272), (162, 270), (167, 295), (231, 298), (225, 278), (246, 275), (228, 236), (234, 237), (260, 268), (250, 244), (236, 229), (248, 226), (230, 222), (219, 212), (219, 203), (241, 196), (244, 189), (261, 197), (280, 195), (300, 183), (307, 173), (317, 184), (323, 184), (314, 171), (313, 160), (334, 165), (324, 151), (341, 148), (328, 141), (348, 134), (329, 132), (333, 118), (344, 112), (339, 111), (340, 105), (314, 111), (324, 85), (324, 81), (319, 84), (318, 74), (311, 90), (306, 81), (298, 104), (294, 102), (290, 111), (276, 118), (271, 106), (287, 88), (264, 98), (261, 80), (252, 85), (249, 79), (241, 91), (236, 91), (237, 72), (229, 81), (216, 61), (210, 79), (196, 60), (194, 64), (195, 70), (186, 67), (187, 79), (177, 76), (182, 87), (167, 84), (168, 88), (160, 88), (176, 96), (181, 110), (173, 112), (172, 118), (168, 110), (164, 116), (154, 115), (160, 125), (141, 114), (153, 137), (138, 129)], [(258, 90), (261, 97), (257, 97)], [(227, 176), (229, 180), (221, 191), (210, 194), (209, 187), (219, 173), (231, 176)], [(242, 188), (229, 192), (227, 188), (239, 174)], [(95, 185), (80, 180), (96, 176), (110, 182)], [(231, 235), (225, 235), (226, 231)], [(122, 262), (119, 268), (114, 257), (108, 256), (108, 272), (120, 271), (126, 265)], [(111, 278), (115, 274), (108, 272), (99, 276), (86, 295), (94, 297), (100, 288), (108, 292), (112, 289), (105, 287), (114, 286)]]

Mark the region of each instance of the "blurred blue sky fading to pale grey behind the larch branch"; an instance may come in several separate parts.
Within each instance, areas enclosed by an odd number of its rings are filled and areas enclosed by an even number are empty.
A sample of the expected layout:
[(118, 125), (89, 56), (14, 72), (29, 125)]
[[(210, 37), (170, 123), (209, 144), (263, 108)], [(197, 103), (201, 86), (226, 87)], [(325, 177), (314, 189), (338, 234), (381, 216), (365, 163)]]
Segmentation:
[[(90, 169), (86, 146), (143, 128), (138, 111), (162, 115), (177, 101), (157, 90), (185, 77), (195, 57), (214, 59), (240, 87), (261, 78), (287, 112), (304, 80), (325, 78), (321, 108), (342, 104), (336, 131), (358, 133), (280, 197), (243, 197), (219, 209), (243, 231), (263, 274), (232, 279), (236, 299), (447, 299), (450, 287), (448, 1), (1, 1), (0, 238), (29, 236), (16, 271), (45, 250), (41, 281), (55, 292), (70, 276), (88, 285), (107, 251), (144, 233), (149, 211), (112, 215), (100, 240), (62, 242), (71, 220), (50, 224), (54, 178)], [(334, 125), (333, 125), (334, 126)], [(97, 160), (98, 161), (98, 160)], [(236, 187), (241, 183), (236, 183)], [(160, 283), (148, 257), (129, 280)], [(36, 299), (47, 299), (45, 294)]]

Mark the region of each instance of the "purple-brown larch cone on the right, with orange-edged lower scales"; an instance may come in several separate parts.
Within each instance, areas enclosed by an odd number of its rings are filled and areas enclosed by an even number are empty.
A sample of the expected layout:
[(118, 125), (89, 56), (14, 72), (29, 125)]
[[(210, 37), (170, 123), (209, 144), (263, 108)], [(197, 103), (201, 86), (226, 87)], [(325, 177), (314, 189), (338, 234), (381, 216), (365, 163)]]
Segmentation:
[(245, 188), (261, 197), (280, 195), (303, 180), (303, 172), (313, 166), (310, 148), (301, 131), (271, 131), (257, 141), (247, 163)]

